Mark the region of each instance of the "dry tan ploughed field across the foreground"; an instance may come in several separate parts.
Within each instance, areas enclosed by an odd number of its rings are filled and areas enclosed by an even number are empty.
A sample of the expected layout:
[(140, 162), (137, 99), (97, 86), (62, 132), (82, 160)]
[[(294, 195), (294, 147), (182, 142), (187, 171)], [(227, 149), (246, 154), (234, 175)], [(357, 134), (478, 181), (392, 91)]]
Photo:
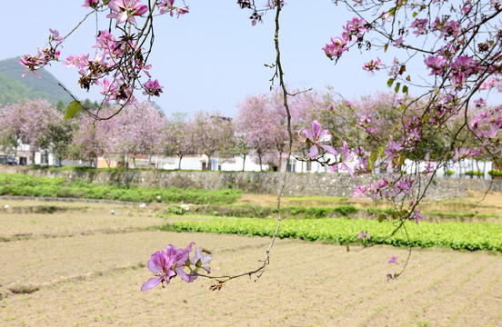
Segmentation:
[[(146, 261), (191, 241), (215, 274), (257, 267), (267, 238), (144, 231), (163, 220), (146, 208), (0, 200), (1, 326), (502, 326), (502, 256), (414, 250), (407, 271), (387, 264), (406, 249), (279, 240), (255, 282), (220, 292), (210, 281), (141, 292)], [(49, 209), (47, 209), (49, 208)], [(116, 215), (111, 214), (115, 210)], [(174, 219), (182, 219), (176, 217)]]

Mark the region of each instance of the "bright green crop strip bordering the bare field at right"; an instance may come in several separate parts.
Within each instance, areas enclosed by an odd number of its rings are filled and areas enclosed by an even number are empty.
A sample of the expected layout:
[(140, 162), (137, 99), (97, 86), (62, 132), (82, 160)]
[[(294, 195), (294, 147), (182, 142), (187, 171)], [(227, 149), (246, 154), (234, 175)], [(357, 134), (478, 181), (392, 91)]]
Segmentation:
[[(502, 251), (502, 224), (499, 223), (405, 223), (406, 231), (396, 228), (397, 222), (339, 219), (286, 220), (281, 223), (280, 238), (298, 238), (308, 241), (356, 243), (360, 231), (368, 231), (370, 243), (395, 246), (447, 247), (455, 250)], [(176, 222), (178, 232), (236, 233), (272, 236), (276, 221), (253, 218), (216, 218), (208, 222)], [(407, 238), (409, 237), (409, 240)]]

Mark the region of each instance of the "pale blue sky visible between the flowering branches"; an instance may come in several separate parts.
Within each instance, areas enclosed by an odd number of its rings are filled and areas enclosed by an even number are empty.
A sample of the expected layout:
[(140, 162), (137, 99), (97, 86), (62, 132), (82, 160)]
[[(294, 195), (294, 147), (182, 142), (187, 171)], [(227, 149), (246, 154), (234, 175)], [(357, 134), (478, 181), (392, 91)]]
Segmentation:
[[(0, 60), (35, 54), (43, 47), (53, 28), (65, 35), (88, 12), (83, 0), (28, 0), (3, 4), (1, 20), (5, 43)], [(265, 3), (265, 1), (264, 1)], [(22, 5), (21, 5), (22, 4)], [(156, 44), (150, 57), (152, 75), (164, 88), (156, 98), (166, 114), (219, 110), (236, 116), (236, 104), (247, 95), (266, 93), (273, 71), (264, 64), (275, 60), (273, 13), (264, 24), (252, 26), (248, 12), (236, 1), (186, 1), (190, 13), (179, 19), (168, 15), (156, 18)], [(387, 74), (370, 74), (362, 65), (380, 56), (390, 64), (393, 49), (382, 53), (359, 54), (351, 49), (338, 64), (327, 59), (321, 48), (331, 36), (340, 35), (342, 25), (352, 17), (343, 5), (329, 0), (287, 1), (281, 13), (280, 43), (286, 84), (290, 88), (313, 87), (319, 92), (332, 85), (346, 98), (387, 90)], [(105, 29), (107, 21), (98, 22)], [(13, 31), (7, 33), (6, 31)], [(92, 52), (95, 19), (65, 41), (61, 58)], [(348, 55), (347, 55), (348, 54)], [(86, 93), (76, 84), (78, 74), (55, 63), (48, 70), (80, 99), (99, 99), (97, 91)], [(410, 89), (410, 94), (413, 90)]]

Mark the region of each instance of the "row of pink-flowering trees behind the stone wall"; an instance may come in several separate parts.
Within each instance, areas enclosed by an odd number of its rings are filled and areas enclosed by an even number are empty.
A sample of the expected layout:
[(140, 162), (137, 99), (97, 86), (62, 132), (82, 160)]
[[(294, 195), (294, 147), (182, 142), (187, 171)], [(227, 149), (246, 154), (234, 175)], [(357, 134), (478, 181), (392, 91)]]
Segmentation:
[[(297, 94), (290, 104), (292, 126), (300, 135), (303, 128), (317, 119), (323, 128), (334, 131), (332, 146), (346, 140), (352, 149), (371, 153), (382, 139), (401, 128), (401, 108), (410, 102), (407, 96), (394, 93), (379, 93), (350, 102), (335, 100), (329, 92), (306, 92)], [(25, 100), (0, 108), (0, 150), (13, 154), (18, 144), (29, 144), (32, 155), (47, 150), (59, 159), (90, 163), (99, 156), (108, 164), (117, 156), (121, 161), (128, 157), (134, 161), (137, 154), (148, 154), (150, 160), (153, 154), (166, 154), (179, 158), (178, 168), (187, 154), (206, 154), (209, 163), (212, 156), (219, 154), (241, 156), (245, 163), (250, 156), (261, 168), (264, 164), (280, 167), (287, 153), (288, 137), (280, 94), (251, 95), (237, 107), (236, 119), (202, 111), (191, 118), (174, 114), (168, 119), (156, 104), (143, 102), (127, 105), (122, 114), (112, 119), (95, 121), (87, 114), (65, 120), (57, 105), (43, 99)], [(95, 110), (111, 115), (116, 108), (107, 105)], [(414, 110), (420, 110), (419, 102), (409, 106), (407, 114), (415, 114)], [(476, 114), (475, 109), (472, 114)], [(301, 136), (296, 141), (296, 155), (306, 158), (308, 146), (301, 142)], [(426, 141), (408, 158), (418, 159), (429, 152), (440, 157), (447, 151), (440, 134), (429, 134)]]

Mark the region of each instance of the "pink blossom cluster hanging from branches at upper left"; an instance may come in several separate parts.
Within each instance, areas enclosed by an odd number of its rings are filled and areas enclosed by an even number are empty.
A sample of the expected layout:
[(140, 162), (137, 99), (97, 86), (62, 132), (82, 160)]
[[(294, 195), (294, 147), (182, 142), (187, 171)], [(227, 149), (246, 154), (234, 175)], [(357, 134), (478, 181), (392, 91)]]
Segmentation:
[[(110, 101), (119, 104), (134, 103), (134, 92), (137, 89), (143, 89), (148, 96), (159, 96), (163, 87), (157, 80), (151, 79), (148, 72), (151, 65), (146, 63), (151, 49), (142, 45), (151, 44), (152, 35), (148, 28), (151, 28), (149, 26), (155, 10), (159, 15), (179, 17), (188, 13), (188, 7), (176, 6), (175, 0), (158, 1), (156, 7), (145, 5), (140, 0), (85, 0), (83, 6), (96, 13), (108, 12), (106, 18), (111, 20), (110, 26), (115, 25), (115, 29), (102, 30), (95, 35), (94, 55), (76, 54), (66, 57), (66, 67), (75, 68), (80, 75), (78, 84), (87, 91), (94, 85), (101, 87), (104, 104)], [(142, 18), (142, 21), (138, 22), (138, 18)], [(48, 45), (42, 51), (21, 57), (19, 63), (27, 69), (23, 76), (33, 73), (39, 78), (36, 70), (52, 61), (58, 61), (60, 47), (71, 33), (60, 37), (58, 31), (51, 29), (50, 32)], [(142, 82), (144, 76), (147, 78), (146, 82)]]

